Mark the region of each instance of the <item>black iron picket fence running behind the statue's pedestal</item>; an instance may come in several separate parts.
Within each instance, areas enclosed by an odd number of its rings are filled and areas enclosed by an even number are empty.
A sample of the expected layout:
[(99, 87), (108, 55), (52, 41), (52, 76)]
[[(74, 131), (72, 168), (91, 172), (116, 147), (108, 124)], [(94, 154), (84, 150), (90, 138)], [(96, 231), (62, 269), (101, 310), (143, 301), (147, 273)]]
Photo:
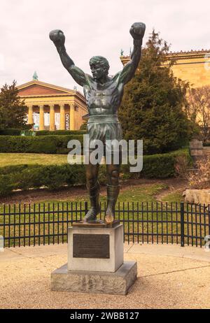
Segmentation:
[[(83, 219), (87, 202), (0, 205), (0, 236), (4, 247), (66, 243), (67, 228)], [(106, 203), (101, 203), (103, 219)], [(210, 205), (132, 202), (116, 205), (128, 243), (204, 245), (210, 235)], [(2, 239), (2, 238), (1, 238)]]

